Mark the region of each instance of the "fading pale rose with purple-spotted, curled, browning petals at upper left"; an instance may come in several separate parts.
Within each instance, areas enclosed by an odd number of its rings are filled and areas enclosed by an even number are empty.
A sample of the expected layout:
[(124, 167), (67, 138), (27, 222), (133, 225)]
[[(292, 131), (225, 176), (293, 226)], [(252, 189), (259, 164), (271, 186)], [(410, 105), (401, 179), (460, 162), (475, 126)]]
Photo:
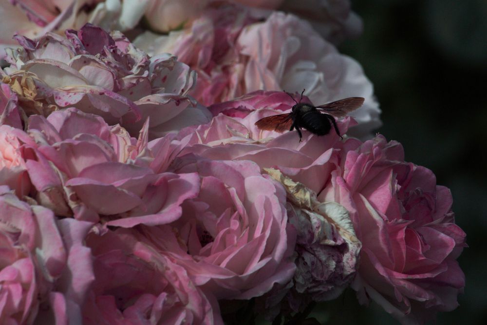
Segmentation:
[(93, 25), (67, 31), (66, 37), (18, 36), (22, 49), (8, 51), (11, 66), (4, 79), (31, 103), (22, 105), (27, 115), (75, 107), (111, 125), (120, 123), (134, 135), (150, 116), (151, 138), (209, 120), (206, 108), (187, 96), (195, 73), (174, 56), (149, 58), (122, 34), (109, 35)]

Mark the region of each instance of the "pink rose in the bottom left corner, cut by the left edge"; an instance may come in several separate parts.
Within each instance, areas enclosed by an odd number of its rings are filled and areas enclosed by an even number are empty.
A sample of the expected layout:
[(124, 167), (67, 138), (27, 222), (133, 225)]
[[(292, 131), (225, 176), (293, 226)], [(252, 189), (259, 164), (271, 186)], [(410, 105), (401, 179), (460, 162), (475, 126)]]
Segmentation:
[(66, 263), (53, 212), (0, 186), (0, 242), (0, 323), (33, 324)]

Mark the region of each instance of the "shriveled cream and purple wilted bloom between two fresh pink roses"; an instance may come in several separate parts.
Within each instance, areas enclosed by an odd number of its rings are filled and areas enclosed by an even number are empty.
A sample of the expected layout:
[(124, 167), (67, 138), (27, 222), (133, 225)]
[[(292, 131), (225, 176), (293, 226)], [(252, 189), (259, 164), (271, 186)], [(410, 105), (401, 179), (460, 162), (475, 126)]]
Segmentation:
[(265, 171), (286, 189), (290, 223), (298, 233), (290, 307), (300, 311), (311, 301), (335, 299), (353, 280), (361, 248), (349, 212), (337, 203), (319, 202), (314, 191), (278, 170)]

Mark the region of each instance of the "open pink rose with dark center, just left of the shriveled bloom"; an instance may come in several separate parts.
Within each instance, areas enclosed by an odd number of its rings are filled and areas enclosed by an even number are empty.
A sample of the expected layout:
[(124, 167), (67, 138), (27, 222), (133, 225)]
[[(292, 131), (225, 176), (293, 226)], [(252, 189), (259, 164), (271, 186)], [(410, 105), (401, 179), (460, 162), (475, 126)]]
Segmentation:
[[(194, 160), (196, 159), (196, 160)], [(250, 299), (294, 274), (294, 229), (285, 192), (250, 161), (185, 156), (177, 172), (197, 172), (201, 191), (185, 201), (179, 220), (144, 227), (143, 235), (217, 299)]]

